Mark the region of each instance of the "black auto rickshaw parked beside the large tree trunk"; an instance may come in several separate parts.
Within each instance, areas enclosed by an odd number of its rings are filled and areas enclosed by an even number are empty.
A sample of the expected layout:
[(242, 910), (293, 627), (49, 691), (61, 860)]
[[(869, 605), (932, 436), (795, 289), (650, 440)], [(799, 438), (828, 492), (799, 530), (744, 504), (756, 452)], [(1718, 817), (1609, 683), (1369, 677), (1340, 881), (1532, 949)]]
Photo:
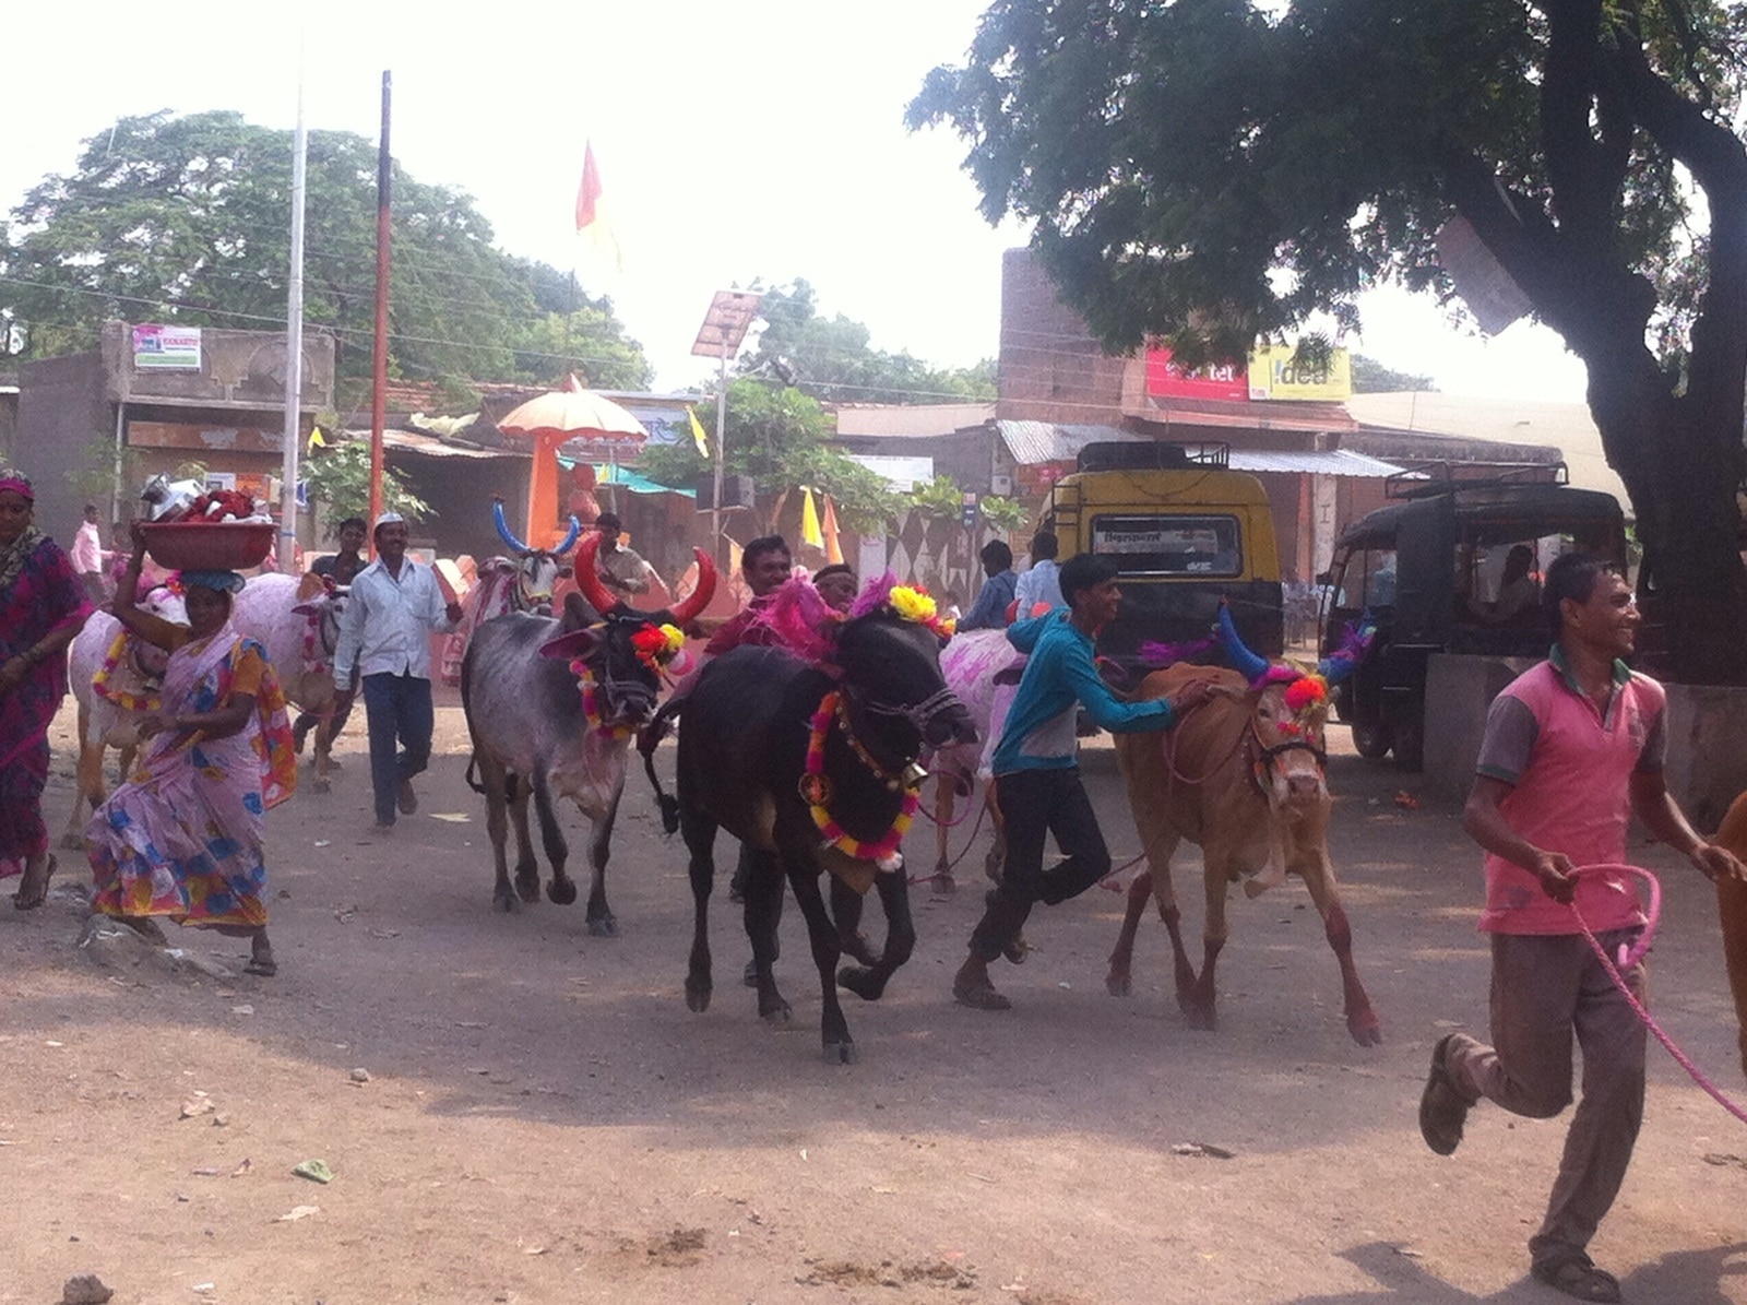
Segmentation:
[[(1543, 468), (1544, 470), (1544, 468)], [(1370, 758), (1419, 770), (1433, 653), (1544, 657), (1551, 643), (1539, 577), (1562, 552), (1623, 566), (1625, 517), (1612, 494), (1555, 482), (1391, 477), (1401, 501), (1349, 526), (1322, 583), (1321, 653), (1370, 611), (1377, 636), (1335, 690), (1336, 716)]]

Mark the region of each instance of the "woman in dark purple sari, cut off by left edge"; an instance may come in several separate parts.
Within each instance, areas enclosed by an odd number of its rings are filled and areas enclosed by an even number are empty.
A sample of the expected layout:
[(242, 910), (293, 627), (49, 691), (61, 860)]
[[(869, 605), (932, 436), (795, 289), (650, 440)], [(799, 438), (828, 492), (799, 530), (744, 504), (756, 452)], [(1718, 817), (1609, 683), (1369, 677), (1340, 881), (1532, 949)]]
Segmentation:
[(72, 559), (37, 529), (37, 496), (0, 468), (0, 879), (23, 873), (12, 905), (49, 894), (54, 858), (42, 823), (49, 722), (66, 695), (66, 645), (91, 615)]

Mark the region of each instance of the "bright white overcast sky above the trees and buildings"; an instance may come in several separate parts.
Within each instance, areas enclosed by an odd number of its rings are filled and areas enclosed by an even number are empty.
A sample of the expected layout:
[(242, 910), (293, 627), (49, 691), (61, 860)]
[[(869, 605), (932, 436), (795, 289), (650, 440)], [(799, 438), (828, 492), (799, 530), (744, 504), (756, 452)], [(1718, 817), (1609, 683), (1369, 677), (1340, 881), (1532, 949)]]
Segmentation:
[[(9, 122), (0, 210), (124, 114), (234, 108), (290, 128), (295, 31), (267, 9), (152, 9), (96, 0), (7, 17)], [(711, 292), (753, 278), (812, 281), (825, 313), (874, 346), (938, 365), (994, 356), (1001, 250), (945, 131), (908, 135), (903, 108), (938, 63), (959, 63), (982, 0), (667, 0), (484, 7), (309, 0), (311, 128), (376, 138), (393, 70), (393, 148), (412, 176), (470, 192), (500, 245), (577, 266), (657, 367), (690, 358)], [(35, 52), (35, 54), (31, 54)], [(592, 273), (575, 236), (583, 142), (594, 142), (624, 273)], [(369, 274), (369, 264), (360, 267)], [(1583, 367), (1551, 332), (1494, 341), (1452, 328), (1431, 299), (1364, 304), (1354, 348), (1441, 390), (1578, 402)]]

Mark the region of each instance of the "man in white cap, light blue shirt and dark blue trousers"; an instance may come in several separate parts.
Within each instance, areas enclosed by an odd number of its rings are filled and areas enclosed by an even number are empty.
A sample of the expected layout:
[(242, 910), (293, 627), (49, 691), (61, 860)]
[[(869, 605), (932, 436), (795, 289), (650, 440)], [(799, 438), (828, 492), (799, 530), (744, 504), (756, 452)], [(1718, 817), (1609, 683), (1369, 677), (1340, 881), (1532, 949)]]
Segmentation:
[[(351, 580), (339, 622), (334, 683), (363, 676), (363, 711), (370, 727), (370, 786), (376, 828), (395, 826), (395, 811), (419, 809), (412, 776), (432, 756), (437, 713), (432, 706), (430, 634), (461, 622), (461, 604), (445, 601), (437, 573), (407, 557), (407, 522), (398, 512), (376, 519), (376, 561)], [(335, 711), (351, 704), (341, 694)]]

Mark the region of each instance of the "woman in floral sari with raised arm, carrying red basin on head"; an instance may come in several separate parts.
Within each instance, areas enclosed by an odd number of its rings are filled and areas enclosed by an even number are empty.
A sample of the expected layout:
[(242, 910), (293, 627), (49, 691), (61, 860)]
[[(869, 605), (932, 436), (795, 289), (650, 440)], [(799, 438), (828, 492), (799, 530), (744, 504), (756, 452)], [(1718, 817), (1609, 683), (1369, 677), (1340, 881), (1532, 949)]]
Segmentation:
[(143, 535), (115, 617), (169, 650), (162, 706), (140, 720), (133, 779), (91, 816), (93, 905), (148, 935), (168, 915), (252, 940), (252, 975), (273, 975), (262, 818), (297, 786), (285, 694), (266, 650), (231, 624), (234, 571), (183, 571), (187, 629), (136, 606)]

